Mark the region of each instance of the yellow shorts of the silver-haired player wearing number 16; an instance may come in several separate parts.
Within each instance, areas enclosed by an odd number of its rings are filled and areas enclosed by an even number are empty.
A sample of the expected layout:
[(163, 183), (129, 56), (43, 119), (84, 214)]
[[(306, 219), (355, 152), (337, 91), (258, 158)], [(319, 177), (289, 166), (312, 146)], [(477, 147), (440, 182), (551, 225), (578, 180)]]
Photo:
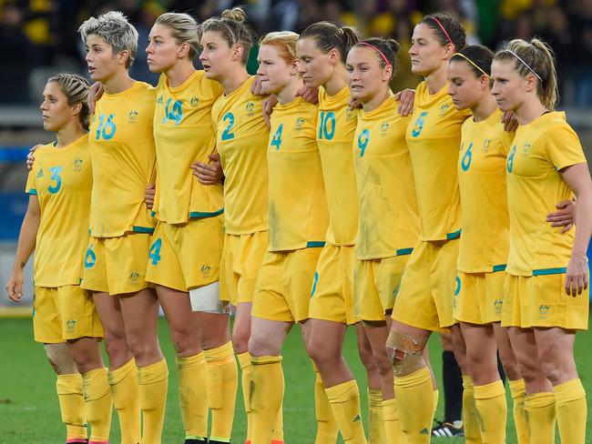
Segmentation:
[(148, 288), (146, 261), (150, 235), (90, 237), (85, 255), (82, 288), (109, 295), (137, 293)]

